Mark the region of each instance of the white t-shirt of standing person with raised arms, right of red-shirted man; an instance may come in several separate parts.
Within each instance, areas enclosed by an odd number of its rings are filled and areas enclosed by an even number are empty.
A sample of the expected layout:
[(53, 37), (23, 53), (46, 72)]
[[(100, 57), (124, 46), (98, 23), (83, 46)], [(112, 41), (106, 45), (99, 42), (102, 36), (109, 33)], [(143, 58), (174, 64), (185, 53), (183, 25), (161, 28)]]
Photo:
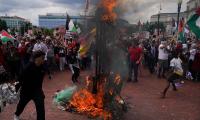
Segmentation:
[(168, 60), (168, 51), (166, 50), (166, 48), (161, 49), (161, 47), (163, 47), (163, 44), (161, 44), (158, 48), (158, 59), (159, 60)]

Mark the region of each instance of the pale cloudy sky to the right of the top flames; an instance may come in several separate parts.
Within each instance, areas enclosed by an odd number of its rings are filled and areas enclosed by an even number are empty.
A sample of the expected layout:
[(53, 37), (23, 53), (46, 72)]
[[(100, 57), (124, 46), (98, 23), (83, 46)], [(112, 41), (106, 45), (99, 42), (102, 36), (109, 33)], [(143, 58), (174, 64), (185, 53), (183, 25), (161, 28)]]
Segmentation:
[[(182, 11), (186, 10), (186, 2), (183, 0)], [(139, 20), (146, 22), (153, 14), (157, 14), (160, 4), (163, 13), (177, 12), (176, 0), (118, 0), (120, 16), (131, 23)]]

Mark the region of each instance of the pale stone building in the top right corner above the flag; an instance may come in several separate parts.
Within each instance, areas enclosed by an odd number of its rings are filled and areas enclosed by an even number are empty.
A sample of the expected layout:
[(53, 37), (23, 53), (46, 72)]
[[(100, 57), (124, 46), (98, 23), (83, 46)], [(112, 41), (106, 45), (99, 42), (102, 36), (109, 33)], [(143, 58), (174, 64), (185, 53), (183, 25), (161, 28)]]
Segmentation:
[(187, 18), (190, 18), (198, 7), (200, 7), (200, 0), (189, 0), (187, 2)]

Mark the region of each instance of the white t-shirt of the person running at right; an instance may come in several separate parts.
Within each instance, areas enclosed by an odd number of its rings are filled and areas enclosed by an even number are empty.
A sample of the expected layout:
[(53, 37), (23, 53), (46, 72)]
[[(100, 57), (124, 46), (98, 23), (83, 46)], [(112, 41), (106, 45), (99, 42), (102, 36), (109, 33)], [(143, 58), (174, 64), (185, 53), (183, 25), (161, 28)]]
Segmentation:
[(178, 71), (180, 73), (183, 73), (183, 68), (182, 68), (182, 60), (180, 58), (173, 58), (170, 61), (170, 67), (174, 67), (174, 71)]

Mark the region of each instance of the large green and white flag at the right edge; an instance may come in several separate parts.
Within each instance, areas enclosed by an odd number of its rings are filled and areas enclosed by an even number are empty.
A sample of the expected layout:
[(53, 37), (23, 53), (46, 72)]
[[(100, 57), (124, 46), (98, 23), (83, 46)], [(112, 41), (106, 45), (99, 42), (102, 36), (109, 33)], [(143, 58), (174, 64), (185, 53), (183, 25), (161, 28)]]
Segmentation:
[(190, 30), (200, 38), (200, 8), (196, 10), (196, 13), (187, 22)]

